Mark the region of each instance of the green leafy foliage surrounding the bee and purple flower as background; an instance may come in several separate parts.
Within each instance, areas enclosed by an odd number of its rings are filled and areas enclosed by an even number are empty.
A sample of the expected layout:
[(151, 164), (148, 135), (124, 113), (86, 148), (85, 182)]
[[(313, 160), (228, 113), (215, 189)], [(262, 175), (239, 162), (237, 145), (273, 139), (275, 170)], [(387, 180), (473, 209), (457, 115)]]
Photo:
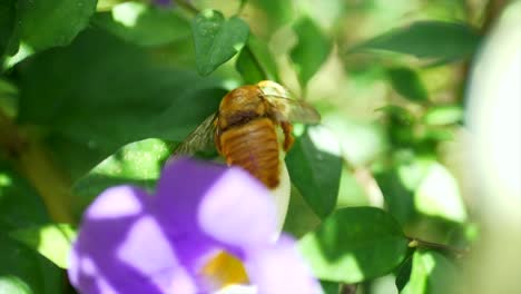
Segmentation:
[(325, 293), (468, 293), (465, 87), (508, 4), (2, 0), (0, 292), (72, 293), (46, 246), (106, 187), (154, 189), (226, 91), (271, 79), (322, 114), (295, 126), (285, 231)]

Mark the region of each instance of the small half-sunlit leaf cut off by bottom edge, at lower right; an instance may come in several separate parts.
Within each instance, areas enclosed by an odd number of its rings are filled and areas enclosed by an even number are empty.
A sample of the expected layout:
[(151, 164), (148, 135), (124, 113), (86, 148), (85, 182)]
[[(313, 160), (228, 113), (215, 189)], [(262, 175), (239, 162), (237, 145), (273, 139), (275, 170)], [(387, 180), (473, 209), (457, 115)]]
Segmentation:
[(460, 283), (455, 278), (459, 271), (455, 264), (440, 253), (416, 251), (413, 255), (410, 280), (400, 293), (454, 293), (452, 287)]

